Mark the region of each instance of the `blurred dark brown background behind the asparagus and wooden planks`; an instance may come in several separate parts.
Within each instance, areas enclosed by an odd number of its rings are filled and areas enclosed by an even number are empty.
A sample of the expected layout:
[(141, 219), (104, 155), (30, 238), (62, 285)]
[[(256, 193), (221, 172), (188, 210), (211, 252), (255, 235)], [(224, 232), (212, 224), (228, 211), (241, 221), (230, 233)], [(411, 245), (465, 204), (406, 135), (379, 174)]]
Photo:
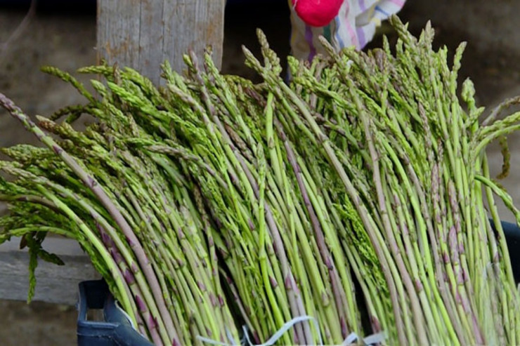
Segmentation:
[[(39, 71), (53, 65), (73, 72), (96, 63), (96, 1), (0, 0), (0, 92), (12, 98), (28, 114), (51, 114), (65, 105), (82, 102), (67, 84)], [(410, 22), (414, 34), (431, 20), (436, 45), (454, 51), (461, 41), (468, 46), (460, 79), (471, 76), (479, 105), (491, 109), (505, 98), (520, 95), (520, 34), (518, 0), (408, 0), (400, 17)], [(244, 66), (241, 46), (258, 53), (255, 29), (266, 33), (282, 57), (289, 53), (290, 22), (287, 0), (229, 0), (226, 6), (222, 70), (255, 79)], [(381, 34), (395, 40), (384, 25), (370, 47), (379, 46)], [(88, 76), (78, 76), (88, 82)], [(0, 110), (0, 146), (35, 142), (32, 135)], [(520, 133), (509, 138), (512, 170), (503, 181), (520, 206)], [(490, 166), (500, 171), (498, 147), (490, 147)], [(503, 206), (503, 220), (513, 220)], [(0, 213), (2, 212), (0, 206)], [(0, 280), (2, 278), (0, 277)], [(75, 307), (44, 302), (13, 302), (0, 297), (1, 345), (75, 345)]]

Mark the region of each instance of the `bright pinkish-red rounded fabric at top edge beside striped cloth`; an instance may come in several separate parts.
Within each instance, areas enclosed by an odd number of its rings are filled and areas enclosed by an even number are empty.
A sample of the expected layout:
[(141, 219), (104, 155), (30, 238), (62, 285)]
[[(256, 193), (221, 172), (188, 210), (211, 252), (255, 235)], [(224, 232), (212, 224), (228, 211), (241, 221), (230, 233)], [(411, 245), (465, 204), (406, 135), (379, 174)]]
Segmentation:
[(311, 27), (328, 25), (339, 13), (343, 0), (292, 0), (294, 11)]

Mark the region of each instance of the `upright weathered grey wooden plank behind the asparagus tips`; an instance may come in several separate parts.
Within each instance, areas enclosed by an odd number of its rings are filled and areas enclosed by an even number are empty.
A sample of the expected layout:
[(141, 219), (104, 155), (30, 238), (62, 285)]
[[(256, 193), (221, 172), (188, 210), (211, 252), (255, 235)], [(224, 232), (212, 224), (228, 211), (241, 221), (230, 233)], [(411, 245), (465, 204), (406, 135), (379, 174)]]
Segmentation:
[(138, 69), (157, 84), (160, 64), (181, 72), (183, 54), (207, 45), (221, 66), (225, 0), (98, 0), (98, 59)]

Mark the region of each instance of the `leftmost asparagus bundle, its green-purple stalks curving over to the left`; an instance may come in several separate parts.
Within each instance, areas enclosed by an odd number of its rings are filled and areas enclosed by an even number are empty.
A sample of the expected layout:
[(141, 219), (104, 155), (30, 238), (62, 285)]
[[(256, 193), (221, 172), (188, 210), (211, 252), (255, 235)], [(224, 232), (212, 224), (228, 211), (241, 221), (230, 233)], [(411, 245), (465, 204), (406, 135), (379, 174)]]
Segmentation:
[(29, 246), (30, 297), (37, 257), (51, 257), (41, 234), (52, 232), (77, 239), (134, 324), (157, 345), (186, 345), (192, 334), (238, 340), (215, 248), (206, 241), (214, 229), (188, 197), (178, 168), (164, 155), (135, 148), (132, 138), (150, 135), (108, 100), (90, 109), (100, 122), (84, 133), (43, 117), (37, 127), (3, 96), (1, 102), (49, 148), (6, 148), (13, 161), (0, 164), (16, 178), (1, 180), (1, 199), (11, 203), (1, 240), (22, 236)]

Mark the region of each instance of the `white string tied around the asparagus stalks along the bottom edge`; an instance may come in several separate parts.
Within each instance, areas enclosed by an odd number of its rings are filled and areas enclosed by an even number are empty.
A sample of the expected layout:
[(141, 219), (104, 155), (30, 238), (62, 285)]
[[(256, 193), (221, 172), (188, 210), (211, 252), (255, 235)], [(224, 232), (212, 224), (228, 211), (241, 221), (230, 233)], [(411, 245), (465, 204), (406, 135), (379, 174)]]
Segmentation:
[[(294, 324), (298, 324), (298, 323), (301, 323), (301, 322), (304, 322), (304, 321), (313, 321), (314, 326), (316, 326), (316, 331), (318, 331), (318, 340), (319, 340), (318, 345), (322, 345), (323, 346), (323, 340), (321, 338), (321, 333), (320, 333), (320, 328), (318, 326), (318, 322), (316, 321), (316, 319), (314, 317), (311, 317), (311, 316), (295, 317), (294, 319), (292, 319), (292, 320), (288, 321), (286, 324), (284, 324), (282, 326), (282, 328), (280, 328), (276, 333), (273, 334), (273, 336), (271, 336), (271, 338), (269, 338), (269, 340), (267, 340), (263, 344), (259, 344), (259, 345), (255, 345), (254, 343), (251, 342), (251, 340), (249, 339), (249, 333), (247, 333), (247, 326), (242, 326), (242, 329), (244, 331), (244, 338), (245, 338), (245, 340), (242, 340), (242, 345), (248, 345), (248, 346), (271, 346), (271, 345), (274, 345), (275, 342), (280, 340), (280, 338), (282, 338), (282, 336), (285, 333), (287, 333), (287, 331), (289, 331), (289, 329), (292, 328), (292, 326), (294, 326)], [(229, 340), (233, 340), (233, 335), (231, 335), (231, 333), (228, 330), (228, 328), (226, 328), (226, 335), (227, 335)], [(346, 339), (342, 343), (342, 346), (351, 345), (353, 342), (358, 340), (358, 338), (359, 337), (358, 337), (358, 335), (356, 333), (351, 333), (349, 336), (346, 337)], [(373, 345), (373, 344), (377, 344), (377, 343), (383, 342), (385, 338), (386, 338), (386, 333), (384, 333), (384, 332), (377, 333), (377, 334), (372, 334), (372, 335), (367, 336), (366, 338), (363, 338), (363, 343), (365, 345)], [(210, 344), (210, 345), (240, 346), (239, 344), (235, 344), (235, 343), (228, 344), (226, 342), (219, 342), (219, 341), (215, 341), (215, 340), (212, 340), (212, 339), (209, 339), (209, 338), (204, 338), (204, 337), (202, 337), (200, 335), (197, 335), (197, 339), (202, 341), (202, 342), (205, 342), (207, 344)]]

